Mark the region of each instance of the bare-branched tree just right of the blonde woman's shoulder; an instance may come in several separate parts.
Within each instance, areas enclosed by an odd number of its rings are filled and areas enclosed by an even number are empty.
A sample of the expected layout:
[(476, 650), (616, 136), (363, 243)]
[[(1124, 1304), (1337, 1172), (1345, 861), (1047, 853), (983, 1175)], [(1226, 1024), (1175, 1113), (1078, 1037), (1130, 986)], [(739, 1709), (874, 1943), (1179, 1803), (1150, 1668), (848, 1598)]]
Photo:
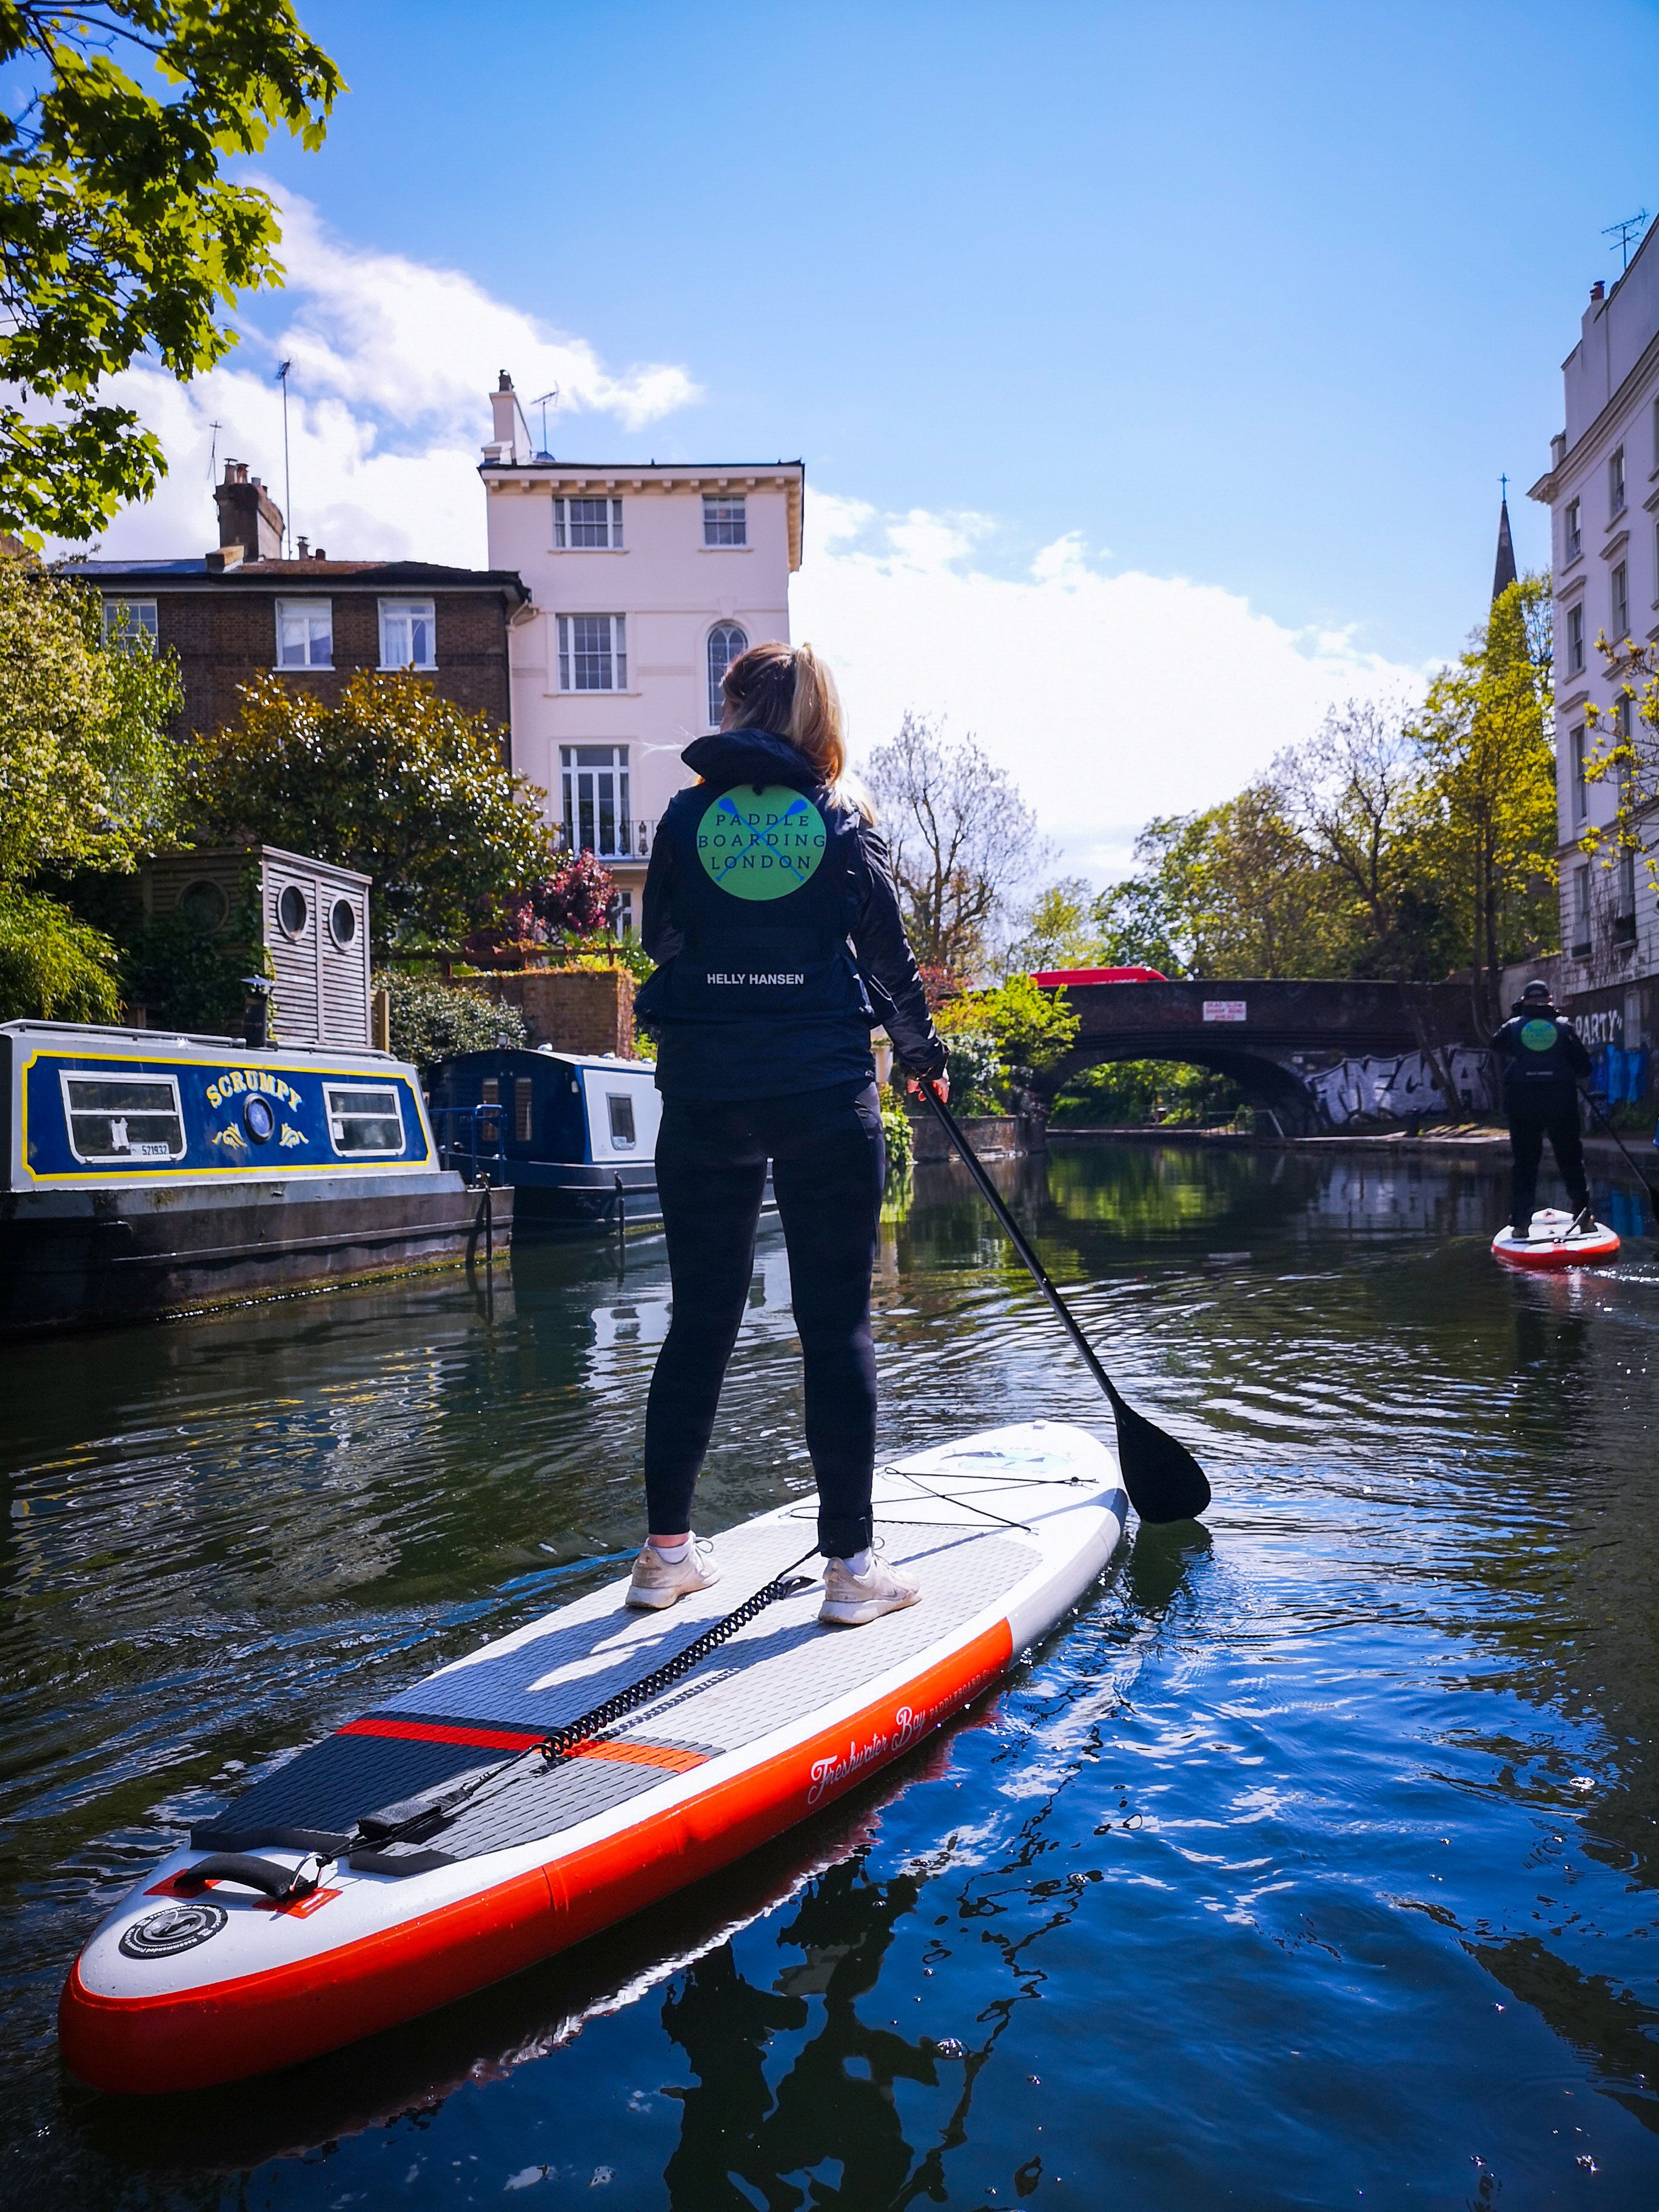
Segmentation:
[(1044, 858), (1035, 814), (971, 737), (947, 739), (925, 714), (905, 714), (865, 779), (918, 962), (978, 973), (1011, 894)]

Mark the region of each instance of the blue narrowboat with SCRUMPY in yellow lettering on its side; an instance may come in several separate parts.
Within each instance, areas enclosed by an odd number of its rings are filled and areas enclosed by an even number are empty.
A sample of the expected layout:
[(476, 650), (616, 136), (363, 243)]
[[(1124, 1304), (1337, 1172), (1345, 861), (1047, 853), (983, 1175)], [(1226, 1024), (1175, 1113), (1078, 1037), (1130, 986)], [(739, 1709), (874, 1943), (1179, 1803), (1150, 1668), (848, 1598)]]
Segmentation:
[(0, 1024), (0, 1329), (257, 1298), (511, 1239), (374, 1051)]

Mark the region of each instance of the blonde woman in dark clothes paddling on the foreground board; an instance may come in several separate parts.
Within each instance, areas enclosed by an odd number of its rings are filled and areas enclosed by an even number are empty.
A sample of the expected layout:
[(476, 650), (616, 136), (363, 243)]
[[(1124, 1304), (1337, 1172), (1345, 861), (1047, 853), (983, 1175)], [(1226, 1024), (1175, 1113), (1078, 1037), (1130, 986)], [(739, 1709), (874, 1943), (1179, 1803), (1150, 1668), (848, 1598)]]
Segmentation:
[[(887, 1155), (869, 1031), (947, 1095), (945, 1046), (905, 938), (869, 803), (847, 781), (841, 701), (812, 646), (750, 646), (726, 670), (717, 737), (681, 759), (699, 781), (657, 827), (637, 1013), (657, 1037), (657, 1190), (675, 1314), (646, 1405), (650, 1535), (630, 1606), (719, 1579), (690, 1531), (721, 1378), (772, 1190), (790, 1248), (807, 1451), (825, 1555), (821, 1621), (914, 1606), (872, 1553), (876, 1354), (869, 1276)], [(872, 998), (880, 1004), (874, 1011)]]

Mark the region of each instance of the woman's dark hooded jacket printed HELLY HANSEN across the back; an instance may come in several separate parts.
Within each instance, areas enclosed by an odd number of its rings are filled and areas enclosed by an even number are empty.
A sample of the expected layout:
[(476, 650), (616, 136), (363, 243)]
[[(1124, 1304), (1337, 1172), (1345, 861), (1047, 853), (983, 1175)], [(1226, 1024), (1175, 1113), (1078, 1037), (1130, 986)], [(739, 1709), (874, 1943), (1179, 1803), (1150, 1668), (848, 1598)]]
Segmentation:
[(869, 1031), (945, 1068), (887, 847), (770, 730), (686, 745), (646, 874), (639, 993), (666, 1097), (745, 1099), (874, 1082)]

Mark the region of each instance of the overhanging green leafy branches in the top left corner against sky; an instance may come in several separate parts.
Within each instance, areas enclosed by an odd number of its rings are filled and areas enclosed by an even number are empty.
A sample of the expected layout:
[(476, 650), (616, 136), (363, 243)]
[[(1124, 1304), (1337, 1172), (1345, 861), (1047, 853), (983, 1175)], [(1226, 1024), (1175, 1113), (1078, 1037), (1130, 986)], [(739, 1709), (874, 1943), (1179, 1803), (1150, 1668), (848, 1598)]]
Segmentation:
[(24, 400), (0, 405), (0, 524), (38, 546), (155, 491), (161, 445), (97, 389), (146, 354), (188, 380), (234, 345), (219, 310), (281, 283), (281, 232), (221, 164), (272, 124), (319, 146), (343, 80), (290, 0), (0, 0), (0, 380)]

